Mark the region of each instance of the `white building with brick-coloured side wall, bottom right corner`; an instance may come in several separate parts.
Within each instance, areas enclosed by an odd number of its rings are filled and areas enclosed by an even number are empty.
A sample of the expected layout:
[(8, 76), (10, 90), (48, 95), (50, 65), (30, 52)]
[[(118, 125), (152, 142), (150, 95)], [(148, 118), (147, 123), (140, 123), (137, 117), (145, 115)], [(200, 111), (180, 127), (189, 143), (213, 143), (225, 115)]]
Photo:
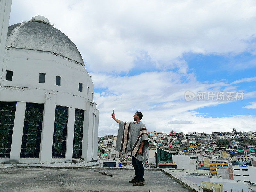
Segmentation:
[(229, 179), (256, 184), (256, 167), (247, 165), (228, 166)]

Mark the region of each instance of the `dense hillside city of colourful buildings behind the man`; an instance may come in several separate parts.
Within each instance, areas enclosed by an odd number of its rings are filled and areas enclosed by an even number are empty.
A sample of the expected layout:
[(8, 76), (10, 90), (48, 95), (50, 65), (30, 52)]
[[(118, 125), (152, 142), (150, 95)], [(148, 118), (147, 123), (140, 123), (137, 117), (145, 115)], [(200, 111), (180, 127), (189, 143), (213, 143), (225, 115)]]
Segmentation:
[[(116, 139), (113, 135), (98, 137), (98, 159), (103, 166), (132, 166), (130, 153), (115, 151)], [(256, 185), (256, 132), (233, 129), (184, 135), (173, 130), (169, 134), (153, 130), (148, 132), (148, 139), (150, 147), (145, 167), (169, 168), (190, 175), (210, 175)]]

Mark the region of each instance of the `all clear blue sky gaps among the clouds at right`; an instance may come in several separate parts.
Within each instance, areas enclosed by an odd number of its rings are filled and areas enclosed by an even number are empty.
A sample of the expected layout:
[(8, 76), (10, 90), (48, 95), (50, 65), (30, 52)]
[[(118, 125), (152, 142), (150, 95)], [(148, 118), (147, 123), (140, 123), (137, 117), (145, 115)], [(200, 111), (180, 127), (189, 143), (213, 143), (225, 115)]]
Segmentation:
[[(190, 70), (196, 74), (196, 78), (200, 82), (220, 81), (225, 79), (228, 83), (231, 83), (238, 79), (255, 77), (256, 63), (255, 61), (252, 62), (255, 60), (255, 55), (251, 53), (244, 52), (235, 56), (185, 54), (184, 60), (188, 63)], [(248, 68), (236, 69), (235, 66), (239, 63), (244, 63), (244, 65), (252, 63), (253, 65)], [(232, 66), (234, 66), (234, 68), (232, 68)], [(256, 84), (254, 81), (240, 83), (238, 90), (252, 92), (256, 90)], [(218, 106), (198, 108), (197, 111), (206, 113), (211, 117), (228, 117), (247, 114), (256, 115), (255, 109), (243, 108), (254, 101), (255, 98), (243, 99), (242, 101), (239, 100)]]

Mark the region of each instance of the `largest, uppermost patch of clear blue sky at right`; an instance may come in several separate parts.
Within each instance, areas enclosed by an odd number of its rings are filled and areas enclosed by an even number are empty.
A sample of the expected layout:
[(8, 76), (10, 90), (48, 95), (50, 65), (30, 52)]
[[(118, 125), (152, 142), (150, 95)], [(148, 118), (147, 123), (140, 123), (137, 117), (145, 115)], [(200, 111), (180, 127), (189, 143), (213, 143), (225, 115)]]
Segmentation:
[[(232, 82), (237, 79), (255, 76), (256, 58), (255, 55), (248, 52), (234, 56), (184, 54), (183, 57), (191, 71), (196, 74), (198, 81), (201, 82), (221, 79)], [(240, 63), (245, 65), (244, 68), (237, 66)], [(243, 86), (246, 85), (243, 84)], [(252, 88), (255, 90), (255, 87), (254, 84)]]

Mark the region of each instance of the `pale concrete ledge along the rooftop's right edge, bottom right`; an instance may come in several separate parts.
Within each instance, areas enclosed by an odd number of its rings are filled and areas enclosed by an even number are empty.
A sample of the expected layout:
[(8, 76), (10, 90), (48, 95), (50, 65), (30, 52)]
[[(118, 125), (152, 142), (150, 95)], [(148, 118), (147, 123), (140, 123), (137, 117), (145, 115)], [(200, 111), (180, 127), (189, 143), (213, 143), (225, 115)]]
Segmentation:
[(172, 179), (178, 181), (181, 185), (183, 185), (184, 187), (190, 189), (193, 192), (199, 192), (200, 186), (196, 185), (195, 183), (193, 183), (190, 180), (185, 179), (184, 177), (173, 173), (172, 171), (170, 171), (169, 169), (161, 169), (162, 172), (164, 172), (165, 174), (169, 175)]

